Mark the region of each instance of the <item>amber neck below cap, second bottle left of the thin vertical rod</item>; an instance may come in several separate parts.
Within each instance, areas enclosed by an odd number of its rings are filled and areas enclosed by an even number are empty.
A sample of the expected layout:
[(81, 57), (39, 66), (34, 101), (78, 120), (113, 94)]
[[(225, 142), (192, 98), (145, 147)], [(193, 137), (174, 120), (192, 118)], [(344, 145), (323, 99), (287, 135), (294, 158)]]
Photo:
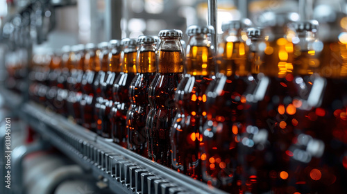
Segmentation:
[(158, 58), (158, 73), (183, 73), (184, 53), (180, 37), (162, 38)]

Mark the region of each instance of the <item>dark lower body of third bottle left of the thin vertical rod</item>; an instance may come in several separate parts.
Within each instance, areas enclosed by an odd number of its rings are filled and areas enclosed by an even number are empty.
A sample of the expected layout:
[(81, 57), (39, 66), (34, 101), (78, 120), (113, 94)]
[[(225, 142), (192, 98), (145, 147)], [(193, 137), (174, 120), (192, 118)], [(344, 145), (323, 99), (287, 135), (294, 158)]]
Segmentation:
[(147, 96), (154, 77), (155, 73), (137, 73), (129, 90), (131, 105), (126, 117), (128, 148), (144, 157), (149, 157), (145, 127), (147, 114), (151, 108)]

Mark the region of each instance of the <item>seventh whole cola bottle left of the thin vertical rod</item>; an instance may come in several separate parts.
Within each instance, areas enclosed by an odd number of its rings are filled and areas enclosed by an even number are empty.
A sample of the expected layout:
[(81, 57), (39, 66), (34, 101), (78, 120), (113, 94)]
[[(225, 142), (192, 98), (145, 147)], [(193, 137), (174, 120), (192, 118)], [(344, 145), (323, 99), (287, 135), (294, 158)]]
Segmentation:
[(83, 127), (95, 131), (96, 124), (94, 120), (94, 104), (95, 104), (95, 91), (94, 82), (96, 74), (99, 72), (100, 60), (96, 54), (97, 48), (95, 44), (88, 43), (85, 45), (85, 62), (82, 79), (82, 99), (81, 99), (81, 116), (83, 118)]

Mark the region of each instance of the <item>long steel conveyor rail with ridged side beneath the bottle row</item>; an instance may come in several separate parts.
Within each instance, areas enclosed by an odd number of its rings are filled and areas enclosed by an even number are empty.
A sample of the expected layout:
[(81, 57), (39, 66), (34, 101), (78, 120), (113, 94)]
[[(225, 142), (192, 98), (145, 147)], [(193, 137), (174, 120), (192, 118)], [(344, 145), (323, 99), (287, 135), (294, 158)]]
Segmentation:
[[(0, 91), (6, 94), (6, 102), (19, 97)], [(115, 193), (224, 193), (103, 139), (40, 105), (22, 103), (19, 107), (19, 117), (33, 130)]]

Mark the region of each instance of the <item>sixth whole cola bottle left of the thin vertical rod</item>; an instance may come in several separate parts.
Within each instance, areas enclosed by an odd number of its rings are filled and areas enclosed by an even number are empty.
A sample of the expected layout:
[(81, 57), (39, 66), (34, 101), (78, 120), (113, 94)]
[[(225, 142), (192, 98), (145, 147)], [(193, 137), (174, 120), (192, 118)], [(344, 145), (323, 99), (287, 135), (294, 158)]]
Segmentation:
[(94, 81), (94, 90), (96, 92), (96, 101), (95, 101), (95, 109), (94, 109), (94, 119), (96, 121), (96, 133), (100, 136), (103, 136), (105, 138), (110, 138), (110, 134), (103, 134), (102, 132), (102, 126), (103, 126), (103, 120), (106, 118), (103, 111), (101, 111), (101, 105), (103, 105), (103, 101), (105, 99), (105, 75), (108, 71), (108, 68), (110, 67), (110, 64), (108, 62), (108, 42), (101, 42), (98, 45), (99, 47), (99, 53), (98, 59), (100, 60), (101, 69), (97, 73), (97, 76)]

